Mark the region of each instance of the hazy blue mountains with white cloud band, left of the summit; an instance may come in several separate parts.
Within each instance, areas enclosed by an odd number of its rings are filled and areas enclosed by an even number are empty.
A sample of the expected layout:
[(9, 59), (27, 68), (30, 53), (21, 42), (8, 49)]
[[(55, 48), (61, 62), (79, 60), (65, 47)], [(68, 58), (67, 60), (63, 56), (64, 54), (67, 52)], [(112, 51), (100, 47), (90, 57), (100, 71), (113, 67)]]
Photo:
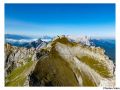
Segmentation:
[(5, 43), (9, 43), (13, 46), (17, 47), (26, 47), (26, 48), (37, 48), (39, 45), (45, 44), (52, 39), (50, 36), (41, 36), (36, 39), (29, 36), (22, 35), (13, 35), (13, 34), (5, 34)]

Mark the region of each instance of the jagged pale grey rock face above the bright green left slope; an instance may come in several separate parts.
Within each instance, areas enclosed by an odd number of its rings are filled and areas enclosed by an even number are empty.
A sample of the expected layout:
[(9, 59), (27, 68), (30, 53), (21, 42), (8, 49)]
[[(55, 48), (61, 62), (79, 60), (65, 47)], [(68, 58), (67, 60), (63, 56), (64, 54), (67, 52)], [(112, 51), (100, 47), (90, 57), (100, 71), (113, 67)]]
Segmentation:
[(5, 44), (5, 71), (6, 75), (17, 67), (25, 65), (34, 54), (34, 48), (27, 49), (22, 47)]

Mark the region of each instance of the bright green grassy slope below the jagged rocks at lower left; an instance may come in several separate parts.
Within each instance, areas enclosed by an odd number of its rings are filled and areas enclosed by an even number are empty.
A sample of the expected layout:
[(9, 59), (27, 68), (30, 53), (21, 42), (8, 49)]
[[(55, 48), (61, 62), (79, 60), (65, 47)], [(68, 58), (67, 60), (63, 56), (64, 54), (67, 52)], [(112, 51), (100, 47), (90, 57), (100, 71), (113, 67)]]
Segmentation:
[(25, 65), (13, 70), (11, 74), (5, 78), (5, 86), (23, 86), (26, 80), (26, 76), (33, 64), (33, 61), (29, 61)]

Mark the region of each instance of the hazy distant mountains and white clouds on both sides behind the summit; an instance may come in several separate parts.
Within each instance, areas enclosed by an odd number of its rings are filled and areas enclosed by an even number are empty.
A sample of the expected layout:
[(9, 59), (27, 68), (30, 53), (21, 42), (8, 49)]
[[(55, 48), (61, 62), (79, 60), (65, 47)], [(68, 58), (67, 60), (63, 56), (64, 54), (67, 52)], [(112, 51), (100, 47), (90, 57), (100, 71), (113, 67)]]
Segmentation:
[[(51, 41), (54, 37), (51, 36), (40, 36), (39, 38), (33, 38), (29, 36), (5, 34), (5, 43), (10, 43), (13, 46), (37, 48)], [(67, 38), (73, 42), (78, 42), (84, 45), (92, 45), (101, 47), (105, 50), (105, 54), (115, 62), (115, 40), (114, 39), (91, 39), (87, 36), (70, 36)]]

